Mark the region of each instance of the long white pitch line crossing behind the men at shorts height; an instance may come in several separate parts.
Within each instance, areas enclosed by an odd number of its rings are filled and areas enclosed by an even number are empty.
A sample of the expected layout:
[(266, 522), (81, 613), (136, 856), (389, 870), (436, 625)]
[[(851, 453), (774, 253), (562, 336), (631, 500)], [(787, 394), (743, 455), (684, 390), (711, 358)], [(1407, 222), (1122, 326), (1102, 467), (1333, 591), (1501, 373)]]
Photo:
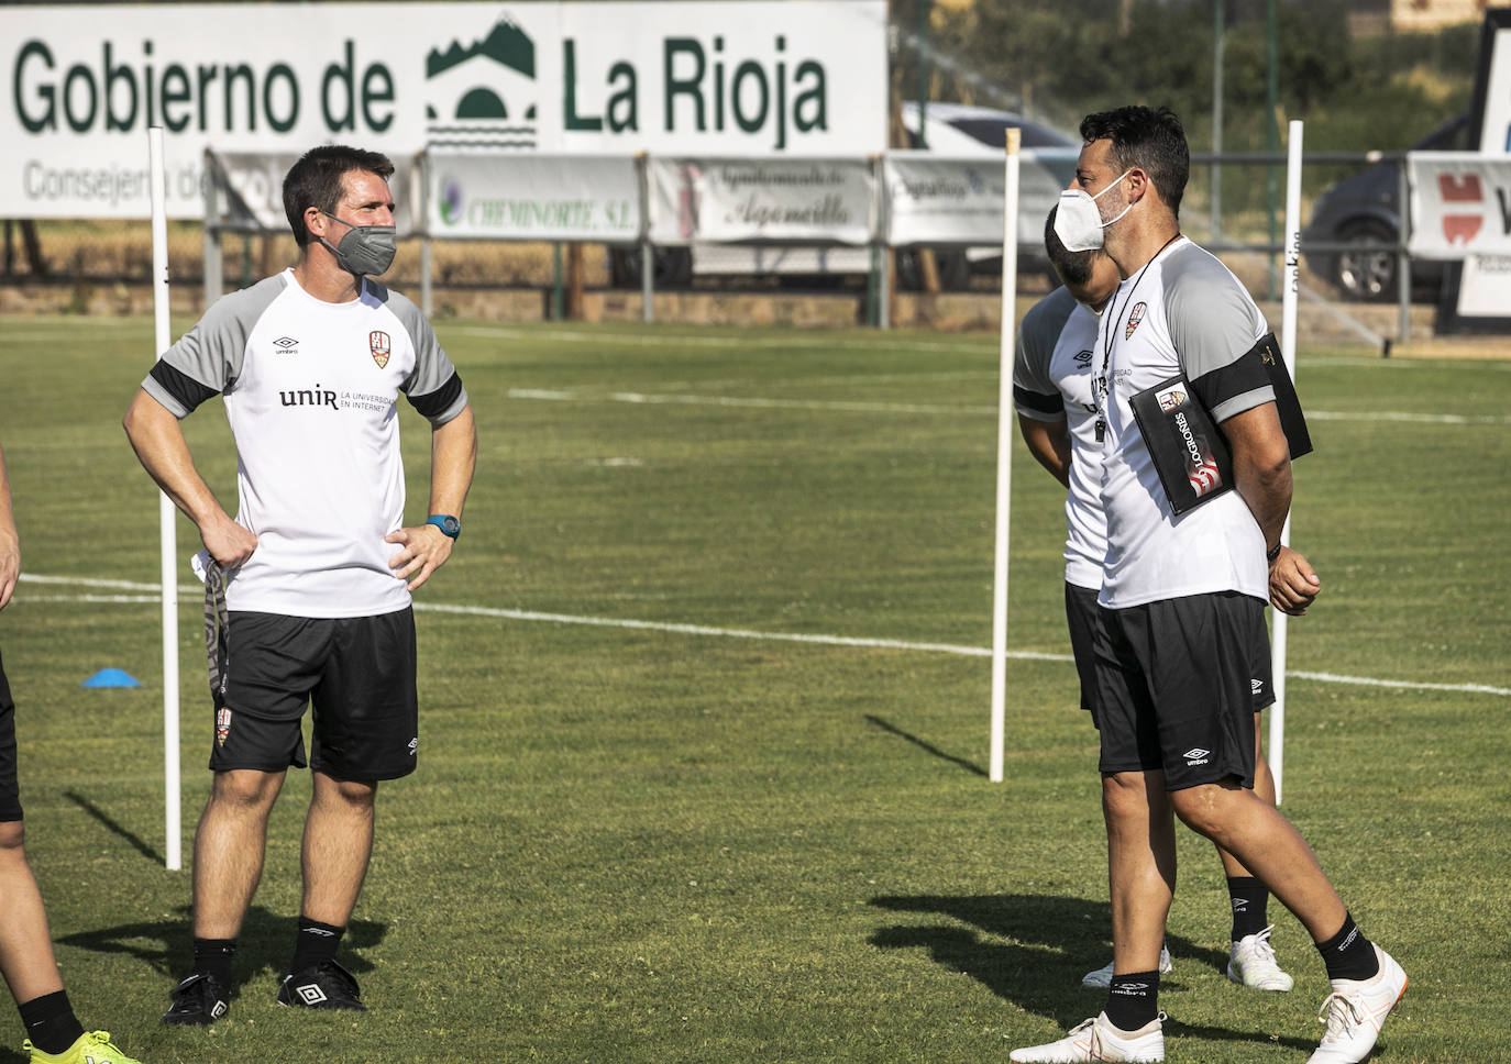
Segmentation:
[[(136, 584), (127, 580), (91, 580), (86, 577), (38, 577), (24, 572), (20, 575), (24, 584), (62, 584), (71, 587), (101, 587), (157, 592), (159, 584)], [(178, 596), (198, 598), (198, 584), (180, 584)], [(26, 596), (21, 602), (157, 602), (160, 595), (77, 595), (77, 596)], [(964, 646), (959, 643), (913, 643), (891, 638), (857, 638), (851, 635), (807, 635), (801, 632), (760, 632), (749, 628), (712, 628), (707, 625), (674, 625), (662, 620), (630, 620), (623, 617), (579, 617), (568, 613), (538, 613), (535, 610), (502, 610), (484, 605), (449, 605), (441, 602), (416, 602), (417, 613), (449, 613), (465, 617), (500, 617), (503, 620), (535, 620), (553, 625), (589, 625), (594, 628), (630, 628), (638, 631), (671, 632), (677, 635), (722, 635), (725, 638), (769, 640), (775, 643), (816, 643), (822, 646), (858, 646), (884, 650), (923, 650), (935, 653), (958, 653), (969, 658), (990, 658), (991, 649), (985, 646)], [(1068, 653), (1046, 653), (1041, 650), (1008, 650), (1009, 658), (1018, 661), (1074, 661)], [(1286, 670), (1286, 676), (1296, 679), (1312, 679), (1319, 684), (1349, 684), (1357, 687), (1392, 687), (1410, 691), (1460, 691), (1466, 694), (1499, 694), (1511, 696), (1508, 687), (1490, 687), (1488, 684), (1423, 684), (1405, 679), (1375, 679), (1372, 676), (1343, 676), (1340, 673), (1316, 673), (1301, 670)]]

